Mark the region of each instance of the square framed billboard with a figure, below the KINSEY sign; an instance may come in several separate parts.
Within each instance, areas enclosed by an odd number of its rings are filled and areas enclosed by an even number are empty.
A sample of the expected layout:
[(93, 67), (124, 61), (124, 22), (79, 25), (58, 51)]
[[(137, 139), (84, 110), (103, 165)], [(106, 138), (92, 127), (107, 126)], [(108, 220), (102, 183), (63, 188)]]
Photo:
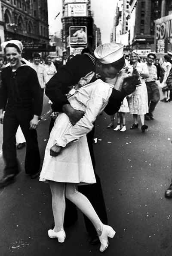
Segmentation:
[(85, 45), (87, 43), (86, 26), (69, 27), (69, 42), (70, 45)]

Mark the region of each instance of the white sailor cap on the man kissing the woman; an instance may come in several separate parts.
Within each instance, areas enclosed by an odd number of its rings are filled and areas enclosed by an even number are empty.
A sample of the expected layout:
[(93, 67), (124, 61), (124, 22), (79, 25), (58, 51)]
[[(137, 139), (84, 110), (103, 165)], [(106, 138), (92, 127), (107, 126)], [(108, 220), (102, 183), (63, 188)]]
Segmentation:
[(94, 55), (101, 63), (110, 64), (123, 57), (123, 47), (118, 43), (105, 43), (95, 49)]

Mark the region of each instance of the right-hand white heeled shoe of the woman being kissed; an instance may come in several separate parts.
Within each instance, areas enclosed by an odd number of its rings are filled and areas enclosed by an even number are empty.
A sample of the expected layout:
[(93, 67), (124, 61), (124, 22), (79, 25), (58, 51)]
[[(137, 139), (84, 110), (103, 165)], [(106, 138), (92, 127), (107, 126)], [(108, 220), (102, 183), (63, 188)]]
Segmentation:
[(111, 226), (103, 225), (101, 236), (99, 236), (99, 240), (101, 243), (100, 252), (104, 252), (108, 247), (108, 237), (113, 238), (115, 235), (115, 230)]

